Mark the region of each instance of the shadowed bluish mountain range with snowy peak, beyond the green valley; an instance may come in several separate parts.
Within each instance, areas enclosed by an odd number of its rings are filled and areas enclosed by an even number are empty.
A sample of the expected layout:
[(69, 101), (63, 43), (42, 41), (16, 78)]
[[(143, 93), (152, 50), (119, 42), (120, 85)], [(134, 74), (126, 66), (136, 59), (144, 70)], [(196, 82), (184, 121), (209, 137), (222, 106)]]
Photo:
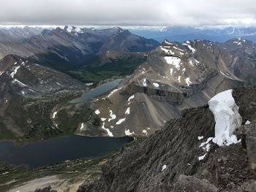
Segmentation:
[(98, 30), (65, 26), (45, 29), (21, 42), (0, 42), (0, 56), (29, 57), (38, 64), (65, 71), (108, 50), (138, 52), (152, 50), (158, 45), (154, 39), (139, 37), (122, 28)]

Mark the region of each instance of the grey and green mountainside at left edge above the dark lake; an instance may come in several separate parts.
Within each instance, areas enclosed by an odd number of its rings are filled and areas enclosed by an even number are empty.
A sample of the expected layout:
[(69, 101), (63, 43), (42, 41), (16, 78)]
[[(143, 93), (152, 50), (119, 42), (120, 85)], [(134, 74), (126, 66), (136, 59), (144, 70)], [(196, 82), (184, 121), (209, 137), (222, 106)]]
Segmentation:
[(54, 123), (53, 107), (85, 90), (67, 74), (17, 55), (5, 56), (0, 61), (1, 139), (43, 139), (70, 131)]

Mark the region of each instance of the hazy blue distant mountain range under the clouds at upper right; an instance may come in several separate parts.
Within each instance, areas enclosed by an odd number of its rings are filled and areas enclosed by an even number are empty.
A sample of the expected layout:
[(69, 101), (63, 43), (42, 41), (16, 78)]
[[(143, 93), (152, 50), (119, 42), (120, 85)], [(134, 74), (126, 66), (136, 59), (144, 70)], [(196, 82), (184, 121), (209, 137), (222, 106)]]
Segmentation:
[(209, 28), (209, 27), (165, 27), (161, 29), (134, 28), (132, 33), (146, 38), (156, 39), (162, 42), (164, 39), (170, 41), (184, 42), (186, 40), (209, 40), (213, 42), (225, 42), (229, 39), (241, 37), (256, 42), (256, 27), (238, 28)]

